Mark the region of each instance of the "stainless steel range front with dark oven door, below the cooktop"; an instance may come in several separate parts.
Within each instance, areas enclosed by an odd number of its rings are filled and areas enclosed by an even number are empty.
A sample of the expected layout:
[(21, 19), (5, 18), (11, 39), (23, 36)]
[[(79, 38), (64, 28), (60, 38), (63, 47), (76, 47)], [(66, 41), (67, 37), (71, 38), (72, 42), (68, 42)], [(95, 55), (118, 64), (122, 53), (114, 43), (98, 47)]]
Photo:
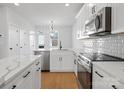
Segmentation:
[(91, 60), (83, 55), (83, 53), (78, 54), (77, 58), (78, 64), (78, 85), (79, 88), (91, 89)]

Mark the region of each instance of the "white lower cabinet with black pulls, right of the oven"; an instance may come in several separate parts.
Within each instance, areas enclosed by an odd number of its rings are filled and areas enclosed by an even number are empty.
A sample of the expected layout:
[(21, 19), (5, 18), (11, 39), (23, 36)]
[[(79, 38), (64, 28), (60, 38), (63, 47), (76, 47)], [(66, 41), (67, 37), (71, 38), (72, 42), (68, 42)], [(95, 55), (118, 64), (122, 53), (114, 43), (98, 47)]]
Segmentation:
[(93, 65), (93, 89), (123, 89), (124, 84), (103, 69)]

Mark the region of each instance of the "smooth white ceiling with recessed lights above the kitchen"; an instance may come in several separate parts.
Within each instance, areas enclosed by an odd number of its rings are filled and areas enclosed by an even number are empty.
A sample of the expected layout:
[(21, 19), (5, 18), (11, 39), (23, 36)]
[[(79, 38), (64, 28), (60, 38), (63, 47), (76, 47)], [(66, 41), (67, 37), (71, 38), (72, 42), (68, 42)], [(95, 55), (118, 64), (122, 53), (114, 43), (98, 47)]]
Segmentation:
[(50, 20), (55, 25), (72, 25), (82, 3), (71, 3), (66, 7), (64, 3), (22, 3), (11, 7), (20, 15), (35, 25), (48, 25)]

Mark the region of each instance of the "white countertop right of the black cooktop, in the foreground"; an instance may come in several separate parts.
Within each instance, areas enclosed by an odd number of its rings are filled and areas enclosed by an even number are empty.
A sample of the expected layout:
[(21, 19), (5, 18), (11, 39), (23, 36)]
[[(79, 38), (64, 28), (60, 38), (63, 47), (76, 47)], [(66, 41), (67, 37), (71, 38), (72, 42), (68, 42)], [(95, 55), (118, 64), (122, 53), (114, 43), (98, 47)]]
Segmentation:
[(93, 64), (124, 83), (124, 62), (96, 62)]

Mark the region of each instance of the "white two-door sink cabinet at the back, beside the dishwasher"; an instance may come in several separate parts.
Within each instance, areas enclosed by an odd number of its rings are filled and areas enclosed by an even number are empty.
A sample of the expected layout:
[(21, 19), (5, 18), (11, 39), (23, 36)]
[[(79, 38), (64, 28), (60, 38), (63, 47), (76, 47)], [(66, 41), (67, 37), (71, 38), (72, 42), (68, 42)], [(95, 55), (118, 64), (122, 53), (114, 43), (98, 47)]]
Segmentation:
[(71, 51), (51, 51), (51, 72), (74, 72), (74, 55)]

